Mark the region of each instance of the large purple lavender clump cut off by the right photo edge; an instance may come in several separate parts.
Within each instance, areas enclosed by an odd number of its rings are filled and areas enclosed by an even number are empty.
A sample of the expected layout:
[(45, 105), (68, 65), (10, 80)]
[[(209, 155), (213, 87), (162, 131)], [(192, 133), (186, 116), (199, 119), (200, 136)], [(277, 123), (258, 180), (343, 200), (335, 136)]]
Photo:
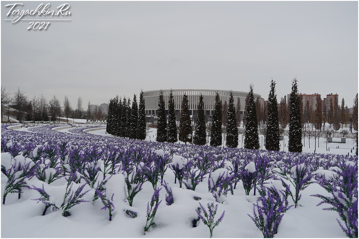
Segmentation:
[(337, 219), (341, 229), (349, 238), (358, 238), (358, 166), (347, 163), (340, 177), (325, 176), (318, 178), (318, 184), (331, 196), (320, 194), (311, 195), (319, 197), (322, 201), (317, 205), (329, 204), (331, 207), (323, 210), (338, 212), (344, 226)]

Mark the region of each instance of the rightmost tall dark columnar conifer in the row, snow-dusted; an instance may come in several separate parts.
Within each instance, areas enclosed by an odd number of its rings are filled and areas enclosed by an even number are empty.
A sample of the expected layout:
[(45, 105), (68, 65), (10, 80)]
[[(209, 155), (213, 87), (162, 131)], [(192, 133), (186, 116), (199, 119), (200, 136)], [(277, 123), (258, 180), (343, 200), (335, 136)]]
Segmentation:
[(300, 109), (298, 96), (298, 80), (294, 78), (292, 81), (292, 92), (289, 99), (289, 152), (302, 152), (302, 127), (300, 123)]

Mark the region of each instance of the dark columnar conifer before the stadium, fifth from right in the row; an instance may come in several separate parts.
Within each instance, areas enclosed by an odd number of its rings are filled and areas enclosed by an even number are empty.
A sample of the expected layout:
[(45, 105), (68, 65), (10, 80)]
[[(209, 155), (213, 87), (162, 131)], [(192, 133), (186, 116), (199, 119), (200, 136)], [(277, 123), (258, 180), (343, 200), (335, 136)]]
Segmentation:
[(213, 110), (211, 125), (211, 146), (219, 146), (222, 144), (222, 109), (219, 93), (216, 92), (215, 105)]

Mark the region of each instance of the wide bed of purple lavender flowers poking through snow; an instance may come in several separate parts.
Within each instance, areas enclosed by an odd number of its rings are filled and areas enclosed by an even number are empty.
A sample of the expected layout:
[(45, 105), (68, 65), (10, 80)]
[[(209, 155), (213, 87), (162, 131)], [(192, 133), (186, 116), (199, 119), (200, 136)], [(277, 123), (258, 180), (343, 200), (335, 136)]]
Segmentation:
[[(342, 179), (351, 175), (350, 177), (357, 180), (357, 156), (158, 143), (102, 137), (83, 132), (84, 129), (96, 127), (70, 129), (69, 132), (73, 134), (69, 134), (52, 130), (58, 125), (29, 129), (33, 133), (9, 130), (6, 129), (7, 126), (9, 125), (1, 125), (1, 171), (8, 177), (6, 184), (8, 189), (3, 195), (4, 203), (8, 193), (19, 193), (20, 197), (23, 193), (22, 188), (28, 187), (40, 193), (41, 197), (36, 200), (45, 204), (45, 212), (48, 207), (53, 206), (57, 210), (63, 210), (62, 215), (70, 216), (69, 209), (73, 206), (91, 203), (82, 197), (89, 190), (94, 190), (96, 192), (94, 200), (101, 199), (102, 209), (108, 210), (111, 220), (114, 210), (113, 195), (109, 194), (110, 192), (107, 194), (106, 183), (110, 177), (120, 175), (124, 177), (123, 184), (126, 185), (128, 194), (126, 200), (130, 206), (136, 202), (135, 196), (141, 191), (143, 183), (148, 181), (152, 184), (155, 196), (151, 199), (151, 209), (148, 208), (149, 224), (145, 229), (147, 231), (153, 225), (154, 214), (160, 203), (158, 201), (160, 188), (157, 186), (165, 187), (163, 191), (167, 192), (168, 206), (176, 202), (171, 187), (163, 181), (163, 175), (173, 170), (173, 176), (178, 182), (191, 191), (196, 191), (196, 186), (204, 178), (208, 178), (209, 191), (219, 203), (224, 203), (227, 197), (233, 195), (233, 190), (239, 190), (236, 189), (236, 184), (240, 181), (243, 183), (246, 195), (250, 195), (256, 189), (261, 190), (258, 202), (253, 204), (255, 214), (251, 218), (256, 225), (258, 224), (264, 236), (274, 236), (279, 230), (278, 226), (284, 215), (283, 210), (286, 211), (290, 207), (285, 203), (286, 198), (292, 196), (292, 205), (297, 206), (301, 198), (300, 193), (309, 184), (319, 183), (325, 188), (330, 187), (329, 185), (333, 185), (333, 188), (343, 188), (339, 191), (334, 189), (330, 191), (334, 197), (337, 196), (335, 199), (338, 201), (350, 195), (350, 200), (336, 210), (342, 220), (338, 221), (340, 224), (338, 228), (345, 231), (348, 236), (358, 235), (358, 207), (351, 204), (355, 199), (356, 202), (358, 200), (358, 183), (349, 187), (348, 180)], [(24, 158), (22, 164), (18, 162), (19, 157)], [(351, 168), (348, 168), (348, 164)], [(168, 168), (172, 170), (168, 171)], [(329, 173), (332, 178), (326, 177)], [(47, 184), (66, 178), (67, 187), (63, 204), (55, 205), (51, 201), (51, 195), (45, 191), (46, 188), (28, 185), (27, 181), (31, 178), (38, 178), (39, 181)], [(283, 183), (286, 189), (284, 190), (286, 194), (284, 191), (282, 193), (283, 196), (285, 194), (285, 200), (278, 193), (280, 188), (277, 188), (278, 191), (265, 189), (269, 180)], [(292, 183), (292, 191), (288, 186), (290, 183)], [(345, 190), (349, 190), (350, 193), (346, 193)], [(229, 191), (230, 193), (227, 193)], [(325, 196), (321, 199), (326, 200)], [(323, 203), (330, 204), (327, 201)], [(273, 224), (271, 225), (260, 218), (266, 213), (262, 209), (265, 204), (272, 208), (270, 214)], [(264, 225), (264, 222), (267, 224)], [(352, 226), (355, 222), (356, 227)], [(261, 223), (263, 225), (260, 225)], [(269, 232), (270, 228), (275, 228), (275, 233)]]

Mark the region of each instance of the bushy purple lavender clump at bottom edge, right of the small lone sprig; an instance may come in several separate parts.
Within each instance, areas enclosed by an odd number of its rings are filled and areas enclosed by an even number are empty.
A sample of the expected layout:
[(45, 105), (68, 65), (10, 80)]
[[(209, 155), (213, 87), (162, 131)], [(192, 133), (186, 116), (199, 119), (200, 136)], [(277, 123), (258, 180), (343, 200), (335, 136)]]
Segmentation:
[(283, 213), (292, 206), (286, 206), (288, 200), (285, 198), (285, 193), (281, 191), (282, 197), (275, 187), (264, 187), (262, 184), (258, 191), (261, 196), (257, 204), (253, 204), (253, 216), (247, 215), (262, 231), (264, 238), (273, 238), (278, 232)]

